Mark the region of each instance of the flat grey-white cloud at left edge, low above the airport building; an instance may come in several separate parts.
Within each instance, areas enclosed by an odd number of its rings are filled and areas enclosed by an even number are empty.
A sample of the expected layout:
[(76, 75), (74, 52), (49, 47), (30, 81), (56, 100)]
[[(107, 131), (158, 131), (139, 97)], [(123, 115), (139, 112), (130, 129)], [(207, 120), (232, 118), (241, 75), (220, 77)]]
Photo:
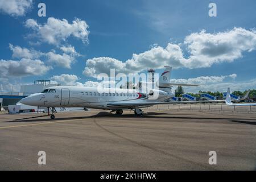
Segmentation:
[(0, 77), (25, 77), (32, 75), (44, 75), (51, 67), (48, 67), (41, 60), (21, 59), (0, 60)]

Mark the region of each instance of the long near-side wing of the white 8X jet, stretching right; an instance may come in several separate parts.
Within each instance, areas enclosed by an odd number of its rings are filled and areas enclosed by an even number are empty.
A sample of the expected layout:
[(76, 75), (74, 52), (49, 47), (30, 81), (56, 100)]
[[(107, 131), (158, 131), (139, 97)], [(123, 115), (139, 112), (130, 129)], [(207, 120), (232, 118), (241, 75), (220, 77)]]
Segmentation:
[(152, 106), (162, 104), (198, 104), (198, 103), (213, 103), (213, 102), (225, 102), (225, 100), (212, 100), (212, 101), (175, 101), (175, 102), (122, 102), (114, 103), (110, 102), (108, 107), (134, 107), (134, 106)]

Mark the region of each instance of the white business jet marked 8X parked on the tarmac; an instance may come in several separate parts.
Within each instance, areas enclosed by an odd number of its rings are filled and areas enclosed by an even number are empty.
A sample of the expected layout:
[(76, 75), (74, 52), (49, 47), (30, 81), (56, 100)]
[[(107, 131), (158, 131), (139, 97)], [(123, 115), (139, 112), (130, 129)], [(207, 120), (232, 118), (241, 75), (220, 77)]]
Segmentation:
[[(138, 89), (109, 88), (109, 92), (99, 93), (97, 87), (84, 86), (52, 86), (42, 93), (31, 94), (23, 98), (22, 104), (31, 106), (44, 106), (52, 108), (51, 118), (55, 107), (87, 107), (93, 109), (107, 109), (122, 114), (123, 109), (134, 110), (135, 115), (142, 115), (142, 107), (150, 107), (158, 104), (189, 104), (208, 101), (179, 101), (164, 102), (174, 96), (171, 93), (172, 85), (197, 86), (187, 84), (170, 83), (171, 67), (166, 67), (159, 80), (155, 83), (159, 89), (151, 89), (146, 93), (139, 92)], [(152, 84), (152, 83), (146, 83)], [(139, 84), (141, 85), (141, 83)], [(157, 96), (155, 98), (155, 96)], [(221, 100), (225, 102), (225, 100)], [(220, 102), (220, 101), (209, 101)]]

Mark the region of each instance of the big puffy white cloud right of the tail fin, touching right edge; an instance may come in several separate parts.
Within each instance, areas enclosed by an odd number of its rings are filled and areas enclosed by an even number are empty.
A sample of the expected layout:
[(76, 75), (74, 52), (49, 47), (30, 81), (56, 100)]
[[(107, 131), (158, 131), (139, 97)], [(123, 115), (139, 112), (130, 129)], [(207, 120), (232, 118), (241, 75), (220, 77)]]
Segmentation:
[(188, 68), (206, 68), (215, 63), (232, 62), (242, 57), (243, 51), (256, 48), (256, 31), (244, 28), (208, 34), (205, 30), (185, 38), (191, 56), (185, 60)]

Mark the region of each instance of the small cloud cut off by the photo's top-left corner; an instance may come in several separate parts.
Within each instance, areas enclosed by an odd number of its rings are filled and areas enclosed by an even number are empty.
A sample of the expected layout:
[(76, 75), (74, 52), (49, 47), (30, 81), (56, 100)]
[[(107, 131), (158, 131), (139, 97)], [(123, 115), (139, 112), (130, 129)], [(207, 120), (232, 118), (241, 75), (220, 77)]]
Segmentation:
[(0, 11), (11, 16), (23, 16), (32, 8), (32, 0), (0, 0)]

